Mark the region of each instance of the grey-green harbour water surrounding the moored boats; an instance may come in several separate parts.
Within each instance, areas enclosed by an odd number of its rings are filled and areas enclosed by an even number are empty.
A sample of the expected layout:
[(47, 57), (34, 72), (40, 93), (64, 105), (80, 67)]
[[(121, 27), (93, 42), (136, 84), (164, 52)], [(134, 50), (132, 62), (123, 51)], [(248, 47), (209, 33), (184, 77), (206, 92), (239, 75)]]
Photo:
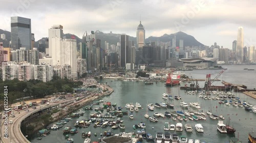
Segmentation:
[[(256, 69), (256, 65), (227, 65), (223, 66), (224, 68), (227, 68), (227, 70), (222, 74), (222, 76), (219, 77), (221, 80), (225, 80), (230, 83), (237, 83), (237, 84), (245, 84), (249, 89), (256, 88), (255, 84), (255, 71), (247, 71), (243, 70), (244, 68), (250, 68), (250, 69)], [(217, 74), (221, 70), (193, 70), (193, 71), (181, 71), (186, 73), (187, 76), (193, 76), (193, 78), (205, 78), (206, 74), (211, 73), (211, 77), (217, 76)], [(227, 142), (230, 137), (236, 136), (238, 137), (239, 133), (239, 139), (243, 142), (248, 141), (248, 132), (251, 132), (255, 130), (255, 123), (256, 123), (256, 113), (245, 111), (244, 108), (239, 107), (233, 107), (233, 106), (226, 106), (225, 104), (219, 104), (218, 100), (204, 100), (202, 98), (199, 98), (199, 94), (195, 95), (189, 95), (186, 92), (182, 90), (178, 90), (177, 86), (175, 87), (164, 87), (163, 82), (154, 82), (153, 85), (145, 85), (144, 82), (132, 82), (132, 81), (119, 81), (114, 80), (111, 81), (110, 79), (104, 79), (100, 82), (105, 83), (108, 82), (110, 87), (112, 87), (115, 91), (110, 96), (103, 97), (101, 100), (103, 101), (110, 101), (112, 104), (117, 103), (117, 105), (123, 106), (122, 110), (126, 110), (124, 108), (126, 103), (136, 103), (139, 102), (142, 105), (143, 109), (139, 109), (138, 112), (133, 112), (134, 120), (129, 119), (129, 116), (123, 116), (122, 119), (124, 120), (123, 124), (125, 125), (125, 132), (136, 132), (136, 130), (133, 129), (133, 125), (139, 124), (140, 122), (144, 122), (146, 124), (146, 132), (151, 133), (154, 137), (157, 132), (165, 132), (163, 130), (163, 126), (165, 122), (169, 122), (170, 124), (175, 124), (176, 121), (173, 121), (168, 118), (157, 118), (158, 123), (153, 123), (148, 121), (144, 118), (144, 114), (146, 112), (146, 104), (156, 102), (171, 102), (174, 103), (175, 108), (174, 109), (166, 109), (166, 108), (156, 108), (154, 111), (148, 111), (148, 114), (153, 117), (154, 112), (161, 112), (164, 113), (165, 111), (186, 111), (187, 109), (181, 108), (179, 105), (181, 100), (164, 100), (162, 99), (162, 94), (164, 92), (168, 94), (177, 95), (178, 92), (180, 93), (180, 96), (182, 97), (182, 101), (189, 103), (189, 102), (199, 102), (201, 105), (201, 109), (205, 111), (212, 110), (212, 113), (215, 115), (223, 115), (225, 117), (224, 124), (227, 122), (228, 117), (230, 118), (230, 126), (233, 126), (236, 128), (236, 133), (234, 135), (228, 135), (228, 134), (221, 134), (217, 131), (217, 124), (218, 120), (211, 120), (209, 117), (206, 117), (206, 121), (187, 121), (182, 122), (183, 128), (185, 124), (190, 124), (193, 127), (192, 133), (187, 133), (184, 129), (183, 132), (178, 132), (178, 135), (186, 135), (189, 139), (200, 139), (200, 141), (205, 142)], [(184, 83), (185, 84), (185, 83)], [(214, 85), (221, 85), (221, 81), (215, 81), (213, 83)], [(203, 87), (204, 82), (199, 82), (200, 87)], [(256, 105), (256, 100), (252, 99), (251, 97), (248, 97), (242, 93), (234, 93), (234, 95), (241, 98), (241, 100), (246, 100), (247, 102), (250, 102), (253, 105)], [(102, 106), (102, 103), (100, 105), (94, 105), (93, 108), (97, 108), (99, 106)], [(192, 108), (188, 108), (188, 110), (193, 110)], [(51, 134), (48, 136), (42, 137), (42, 140), (31, 140), (31, 142), (66, 142), (65, 136), (62, 134), (62, 130), (66, 126), (72, 126), (74, 128), (74, 124), (76, 121), (81, 121), (82, 119), (88, 119), (90, 118), (90, 113), (95, 112), (94, 110), (88, 111), (85, 110), (86, 113), (84, 116), (79, 118), (74, 118), (72, 121), (68, 122), (65, 126), (58, 130), (52, 130)], [(130, 113), (130, 110), (128, 110)], [(104, 110), (103, 114), (106, 113), (106, 110)], [(115, 118), (114, 120), (116, 120)], [(204, 133), (198, 133), (195, 131), (195, 124), (201, 123), (204, 127)], [(154, 127), (154, 129), (152, 128)], [(110, 130), (110, 127), (101, 128), (97, 127), (94, 128), (93, 124), (91, 124), (88, 128), (78, 128), (78, 133), (71, 135), (70, 138), (74, 138), (75, 143), (82, 143), (84, 141), (84, 138), (81, 137), (81, 133), (83, 132), (92, 132), (91, 140), (97, 141), (98, 138), (100, 138), (100, 133), (103, 133), (104, 131)], [(120, 129), (112, 130), (113, 133), (119, 133)], [(123, 131), (123, 130), (122, 130)], [(174, 133), (171, 131), (167, 131), (169, 133)], [(97, 136), (94, 136), (93, 134), (97, 133)], [(91, 142), (92, 142), (91, 141)], [(145, 141), (144, 141), (145, 142)]]

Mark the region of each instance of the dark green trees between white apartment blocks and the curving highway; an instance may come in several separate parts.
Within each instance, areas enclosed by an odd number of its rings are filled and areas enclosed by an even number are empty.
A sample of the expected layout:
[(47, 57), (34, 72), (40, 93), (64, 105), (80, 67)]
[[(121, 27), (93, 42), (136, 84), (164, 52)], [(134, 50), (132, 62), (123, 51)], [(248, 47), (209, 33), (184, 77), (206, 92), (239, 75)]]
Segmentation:
[[(34, 98), (44, 98), (47, 95), (60, 92), (73, 92), (73, 88), (80, 87), (82, 81), (73, 81), (69, 79), (60, 79), (54, 77), (49, 82), (41, 80), (19, 81), (18, 79), (0, 81), (0, 105), (4, 101), (4, 87), (8, 87), (8, 104), (17, 102), (16, 99), (33, 96)], [(1, 110), (0, 106), (0, 110)]]

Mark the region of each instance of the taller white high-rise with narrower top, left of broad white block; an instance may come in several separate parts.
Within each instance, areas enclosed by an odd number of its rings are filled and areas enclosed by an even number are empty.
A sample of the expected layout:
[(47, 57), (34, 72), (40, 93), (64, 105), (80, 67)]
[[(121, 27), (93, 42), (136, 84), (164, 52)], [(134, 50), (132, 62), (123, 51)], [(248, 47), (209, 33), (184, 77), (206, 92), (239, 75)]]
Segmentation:
[(49, 55), (52, 56), (52, 58), (55, 60), (54, 64), (55, 63), (58, 64), (59, 58), (57, 57), (57, 55), (60, 55), (59, 44), (60, 44), (60, 40), (63, 38), (63, 26), (53, 25), (48, 32), (49, 32)]

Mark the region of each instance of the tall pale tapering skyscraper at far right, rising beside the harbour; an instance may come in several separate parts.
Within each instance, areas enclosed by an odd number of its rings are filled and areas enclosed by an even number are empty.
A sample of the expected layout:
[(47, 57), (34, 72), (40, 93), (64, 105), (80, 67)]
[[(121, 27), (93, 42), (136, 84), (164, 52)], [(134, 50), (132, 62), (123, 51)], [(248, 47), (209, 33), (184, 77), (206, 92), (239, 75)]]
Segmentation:
[(239, 64), (244, 63), (244, 28), (238, 27), (237, 55), (236, 59)]

